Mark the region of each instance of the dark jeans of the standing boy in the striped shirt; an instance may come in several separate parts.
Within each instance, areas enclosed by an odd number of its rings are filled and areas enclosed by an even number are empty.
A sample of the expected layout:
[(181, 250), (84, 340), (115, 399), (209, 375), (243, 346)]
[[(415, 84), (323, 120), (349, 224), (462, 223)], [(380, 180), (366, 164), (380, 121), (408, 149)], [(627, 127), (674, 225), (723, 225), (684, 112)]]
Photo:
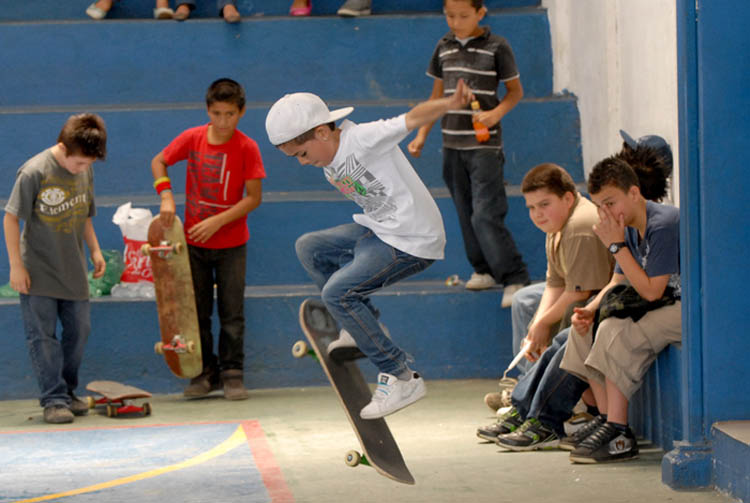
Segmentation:
[(456, 206), (469, 263), (479, 274), (492, 274), (504, 285), (529, 282), (529, 273), (513, 236), (505, 227), (502, 150), (443, 149), (443, 180)]

